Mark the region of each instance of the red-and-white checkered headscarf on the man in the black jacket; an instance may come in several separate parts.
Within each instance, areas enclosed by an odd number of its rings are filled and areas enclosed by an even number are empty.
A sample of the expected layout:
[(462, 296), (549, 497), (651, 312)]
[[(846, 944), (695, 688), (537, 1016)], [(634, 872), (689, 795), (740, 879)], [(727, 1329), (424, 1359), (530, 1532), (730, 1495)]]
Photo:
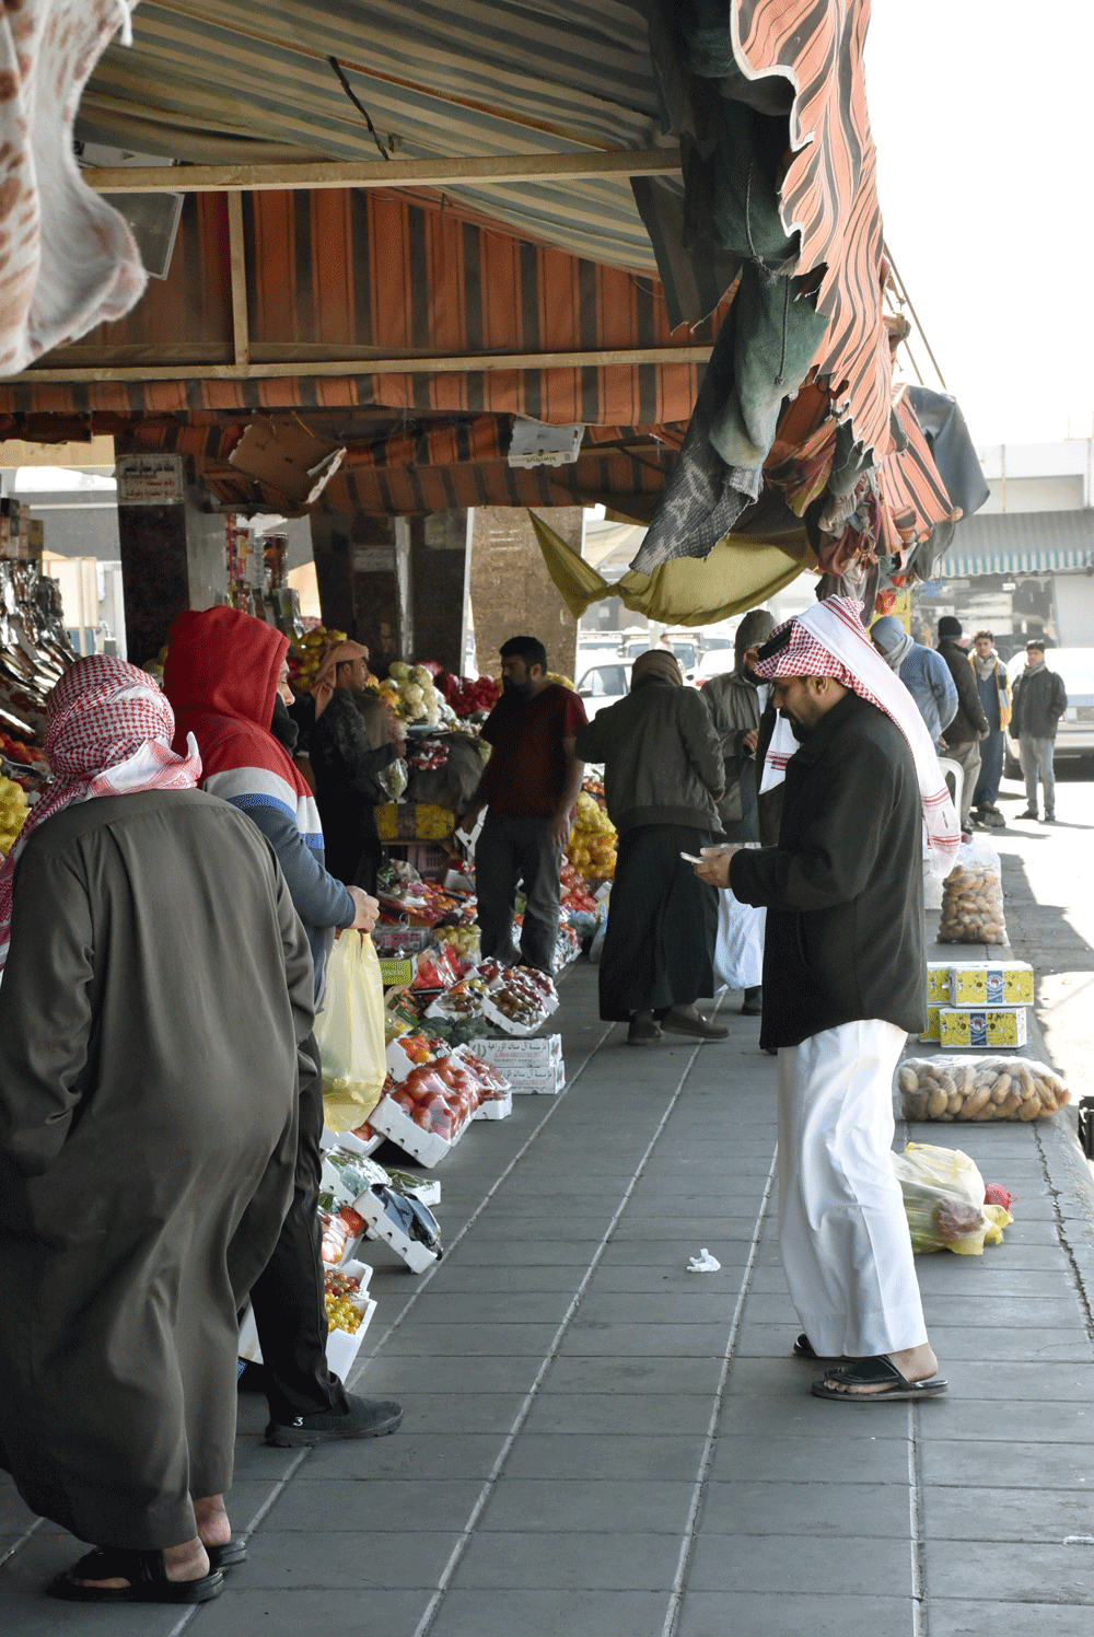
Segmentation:
[[(863, 630), (861, 604), (853, 598), (825, 598), (824, 602), (780, 625), (771, 632), (770, 642), (788, 627), (789, 642), (768, 660), (758, 660), (753, 666), (755, 674), (765, 679), (832, 676), (896, 722), (915, 758), (930, 871), (935, 876), (948, 876), (956, 863), (961, 825), (942, 778), (938, 753), (919, 706)], [(789, 724), (780, 717), (763, 766), (762, 791), (780, 784), (786, 774), (786, 763), (796, 750), (798, 740)]]

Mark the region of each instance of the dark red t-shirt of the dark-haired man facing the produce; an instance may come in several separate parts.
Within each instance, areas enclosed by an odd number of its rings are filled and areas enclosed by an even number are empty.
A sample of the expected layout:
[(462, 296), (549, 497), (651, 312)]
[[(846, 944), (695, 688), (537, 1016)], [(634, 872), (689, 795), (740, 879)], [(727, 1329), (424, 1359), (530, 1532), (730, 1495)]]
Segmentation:
[(588, 717), (578, 696), (549, 683), (532, 699), (503, 694), (483, 724), (490, 764), (478, 787), (491, 814), (554, 818), (567, 782), (563, 738), (576, 738)]

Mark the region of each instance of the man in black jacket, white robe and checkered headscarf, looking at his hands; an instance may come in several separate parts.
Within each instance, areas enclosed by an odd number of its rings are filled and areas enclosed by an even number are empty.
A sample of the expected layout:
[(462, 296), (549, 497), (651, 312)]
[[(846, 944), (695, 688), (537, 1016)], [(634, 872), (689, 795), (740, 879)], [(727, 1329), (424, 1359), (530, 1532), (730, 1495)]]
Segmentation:
[(945, 1391), (891, 1164), (893, 1072), (925, 1023), (924, 827), (947, 873), (960, 832), (922, 717), (830, 598), (773, 632), (784, 779), (776, 846), (704, 848), (696, 873), (766, 907), (760, 1044), (778, 1049), (780, 1244), (801, 1357), (843, 1359), (820, 1398)]

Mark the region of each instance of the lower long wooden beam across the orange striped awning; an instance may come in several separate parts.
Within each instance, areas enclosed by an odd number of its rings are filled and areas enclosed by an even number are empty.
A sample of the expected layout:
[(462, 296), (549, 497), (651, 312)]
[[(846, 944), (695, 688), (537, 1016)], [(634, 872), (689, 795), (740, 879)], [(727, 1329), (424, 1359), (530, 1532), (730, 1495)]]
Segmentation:
[(247, 381), (328, 375), (460, 375), (463, 370), (580, 370), (635, 363), (706, 363), (711, 347), (619, 347), (609, 352), (506, 352), (427, 359), (318, 359), (300, 363), (177, 363), (25, 370), (3, 386), (34, 381)]

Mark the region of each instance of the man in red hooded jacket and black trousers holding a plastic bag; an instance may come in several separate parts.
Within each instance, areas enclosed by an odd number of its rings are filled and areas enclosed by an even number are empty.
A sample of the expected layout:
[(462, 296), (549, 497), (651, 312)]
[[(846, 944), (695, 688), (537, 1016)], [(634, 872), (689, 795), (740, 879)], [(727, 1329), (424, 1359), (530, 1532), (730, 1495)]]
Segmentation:
[[(170, 627), (164, 692), (177, 740), (193, 733), (203, 789), (239, 807), (277, 853), (314, 966), (316, 1002), (336, 927), (370, 931), (380, 905), (324, 869), (319, 814), (300, 771), (270, 732), (288, 638), (239, 609), (180, 614)], [(241, 1020), (242, 1023), (244, 1020)], [(316, 1064), (300, 1087), (293, 1203), (277, 1249), (251, 1292), (270, 1403), (269, 1444), (395, 1432), (403, 1411), (388, 1400), (347, 1393), (326, 1364), (326, 1308), (319, 1257), (323, 1072), (314, 1035), (301, 1048)]]

